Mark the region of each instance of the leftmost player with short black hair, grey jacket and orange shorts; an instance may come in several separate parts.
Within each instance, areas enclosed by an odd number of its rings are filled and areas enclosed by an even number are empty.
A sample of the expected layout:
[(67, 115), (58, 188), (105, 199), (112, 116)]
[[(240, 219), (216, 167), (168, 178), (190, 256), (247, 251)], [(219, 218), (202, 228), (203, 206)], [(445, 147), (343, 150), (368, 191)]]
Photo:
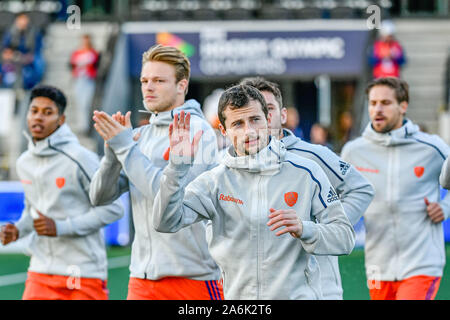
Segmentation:
[(92, 206), (89, 184), (99, 165), (65, 124), (66, 98), (57, 88), (31, 91), (28, 150), (17, 160), (25, 209), (3, 226), (4, 245), (31, 235), (24, 300), (108, 299), (102, 227), (123, 216), (120, 201)]

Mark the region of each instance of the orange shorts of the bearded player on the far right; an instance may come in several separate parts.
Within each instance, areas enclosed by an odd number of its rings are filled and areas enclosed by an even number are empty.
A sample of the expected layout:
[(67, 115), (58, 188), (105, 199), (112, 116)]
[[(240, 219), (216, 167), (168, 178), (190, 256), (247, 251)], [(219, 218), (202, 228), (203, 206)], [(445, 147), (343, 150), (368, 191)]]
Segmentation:
[(369, 293), (372, 300), (434, 300), (440, 283), (440, 277), (414, 276), (400, 281), (380, 281), (379, 288), (369, 289)]

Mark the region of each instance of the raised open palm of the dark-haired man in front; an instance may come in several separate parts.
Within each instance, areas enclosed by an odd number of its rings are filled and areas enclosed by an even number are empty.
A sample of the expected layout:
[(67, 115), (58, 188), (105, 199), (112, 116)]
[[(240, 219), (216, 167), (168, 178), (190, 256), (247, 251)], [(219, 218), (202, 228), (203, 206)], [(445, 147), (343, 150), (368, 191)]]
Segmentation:
[(200, 130), (194, 135), (192, 143), (190, 141), (191, 114), (185, 115), (184, 111), (180, 115), (176, 114), (173, 122), (169, 126), (170, 154), (179, 157), (195, 157), (200, 138), (203, 131)]

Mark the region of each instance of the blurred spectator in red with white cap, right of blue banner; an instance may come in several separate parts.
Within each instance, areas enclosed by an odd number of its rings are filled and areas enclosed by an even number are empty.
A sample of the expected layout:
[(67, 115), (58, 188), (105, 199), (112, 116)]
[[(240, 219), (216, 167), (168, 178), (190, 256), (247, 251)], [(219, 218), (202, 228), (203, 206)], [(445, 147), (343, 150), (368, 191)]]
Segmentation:
[(400, 78), (400, 68), (405, 64), (405, 53), (394, 37), (394, 24), (385, 20), (381, 24), (380, 37), (375, 41), (370, 55), (373, 77)]

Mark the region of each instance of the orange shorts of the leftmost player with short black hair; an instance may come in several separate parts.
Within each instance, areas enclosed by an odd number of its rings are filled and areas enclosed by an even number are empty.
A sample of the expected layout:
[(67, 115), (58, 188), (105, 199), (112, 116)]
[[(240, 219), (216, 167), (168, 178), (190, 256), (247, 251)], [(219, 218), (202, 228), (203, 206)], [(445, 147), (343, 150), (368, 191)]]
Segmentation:
[(28, 272), (23, 300), (108, 300), (106, 281)]

